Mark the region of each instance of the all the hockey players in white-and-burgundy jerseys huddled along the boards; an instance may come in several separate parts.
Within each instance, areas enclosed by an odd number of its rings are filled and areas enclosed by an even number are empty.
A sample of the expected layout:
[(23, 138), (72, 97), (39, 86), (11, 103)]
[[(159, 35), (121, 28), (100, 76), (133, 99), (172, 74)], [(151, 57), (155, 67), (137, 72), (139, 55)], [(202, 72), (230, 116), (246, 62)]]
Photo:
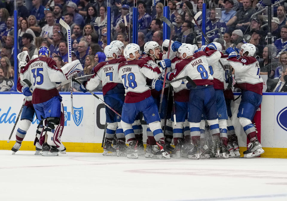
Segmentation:
[[(239, 157), (238, 140), (230, 120), (233, 93), (227, 87), (228, 79), (232, 78), (226, 75), (225, 66), (234, 69), (234, 87), (242, 90), (237, 117), (250, 141), (244, 157), (264, 153), (252, 124), (262, 101), (263, 88), (259, 63), (253, 57), (256, 48), (246, 43), (240, 50), (228, 48), (225, 54), (221, 50), (217, 42), (199, 49), (196, 45), (165, 40), (162, 47), (157, 42), (147, 42), (144, 54), (140, 55), (137, 44), (124, 47), (116, 40), (107, 45), (106, 61), (97, 64), (95, 74), (80, 86), (87, 92), (101, 83), (104, 102), (120, 114), (106, 107), (103, 155), (138, 158), (145, 154), (154, 159)], [(56, 86), (67, 82), (69, 70), (78, 62), (58, 69), (45, 46), (39, 48), (37, 58), (27, 64), (20, 62), (17, 89), (31, 102), (27, 101), (23, 109), (14, 152), (19, 150), (35, 111), (40, 121), (34, 143), (36, 153), (42, 151), (44, 156), (54, 156), (59, 151), (65, 153), (60, 140), (64, 127), (63, 106)], [(27, 80), (31, 87), (25, 83)], [(172, 106), (170, 100), (173, 100)], [(142, 116), (147, 124), (146, 153)], [(206, 122), (208, 131), (205, 131)], [(207, 133), (212, 143), (204, 138)], [(172, 138), (175, 147), (170, 145)]]

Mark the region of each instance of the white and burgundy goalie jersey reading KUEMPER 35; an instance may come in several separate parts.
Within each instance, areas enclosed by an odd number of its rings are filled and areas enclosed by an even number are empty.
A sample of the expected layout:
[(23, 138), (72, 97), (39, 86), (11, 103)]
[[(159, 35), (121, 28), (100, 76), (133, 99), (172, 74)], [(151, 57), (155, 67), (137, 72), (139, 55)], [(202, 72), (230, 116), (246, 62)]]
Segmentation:
[(55, 60), (50, 57), (38, 57), (31, 60), (21, 69), (20, 79), (27, 79), (32, 84), (32, 103), (43, 103), (59, 92), (56, 82), (66, 81), (62, 70), (57, 68)]

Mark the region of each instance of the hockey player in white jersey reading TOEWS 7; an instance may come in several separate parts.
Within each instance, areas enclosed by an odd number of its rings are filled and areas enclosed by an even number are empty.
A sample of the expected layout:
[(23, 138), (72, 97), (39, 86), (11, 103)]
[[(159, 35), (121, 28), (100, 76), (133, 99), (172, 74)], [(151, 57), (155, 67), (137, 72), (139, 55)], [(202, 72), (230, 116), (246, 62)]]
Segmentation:
[[(104, 49), (106, 54), (106, 61), (102, 61), (94, 68), (95, 74), (90, 80), (84, 81), (80, 86), (83, 92), (93, 90), (102, 83), (103, 85), (103, 97), (104, 101), (115, 109), (119, 114), (122, 112), (123, 103), (125, 100), (125, 88), (121, 83), (118, 76), (118, 66), (121, 62), (126, 61), (124, 57), (118, 57), (119, 49), (114, 45), (107, 45)], [(116, 115), (111, 109), (106, 107), (106, 121), (108, 123), (106, 129), (106, 140), (103, 147), (103, 155), (111, 155), (116, 153), (116, 150), (112, 147), (112, 140), (116, 134), (119, 145), (118, 156), (125, 156), (126, 151), (126, 139), (123, 134), (123, 129), (120, 125), (120, 116)], [(112, 154), (112, 155), (113, 155)]]

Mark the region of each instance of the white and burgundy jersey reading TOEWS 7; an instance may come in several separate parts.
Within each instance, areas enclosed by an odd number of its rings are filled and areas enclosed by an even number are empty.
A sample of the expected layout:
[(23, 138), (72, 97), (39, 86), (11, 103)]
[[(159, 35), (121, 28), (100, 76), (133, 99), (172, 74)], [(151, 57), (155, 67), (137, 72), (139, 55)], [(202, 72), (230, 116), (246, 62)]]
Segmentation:
[(106, 95), (109, 90), (115, 88), (117, 84), (122, 83), (118, 75), (118, 67), (121, 62), (125, 61), (124, 57), (120, 57), (97, 64), (94, 67), (95, 74), (86, 83), (86, 88), (93, 90), (102, 82), (103, 95)]

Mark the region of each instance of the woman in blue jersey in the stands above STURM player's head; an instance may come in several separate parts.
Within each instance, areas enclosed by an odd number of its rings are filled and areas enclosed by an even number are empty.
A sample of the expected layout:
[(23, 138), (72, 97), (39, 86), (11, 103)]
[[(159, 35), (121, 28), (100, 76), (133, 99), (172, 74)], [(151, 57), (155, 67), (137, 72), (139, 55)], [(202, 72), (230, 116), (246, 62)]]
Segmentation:
[(146, 31), (152, 22), (152, 16), (146, 13), (146, 4), (138, 1), (138, 30)]

